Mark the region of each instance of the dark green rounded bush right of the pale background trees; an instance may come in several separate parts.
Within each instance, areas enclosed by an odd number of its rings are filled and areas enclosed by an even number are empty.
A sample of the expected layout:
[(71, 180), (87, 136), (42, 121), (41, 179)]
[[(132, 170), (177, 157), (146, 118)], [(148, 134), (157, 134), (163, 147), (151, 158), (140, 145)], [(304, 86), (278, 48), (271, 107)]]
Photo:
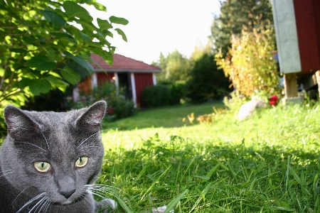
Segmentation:
[(228, 94), (228, 79), (218, 70), (214, 56), (208, 53), (196, 61), (191, 70), (191, 79), (187, 82), (187, 97), (194, 103), (209, 99), (220, 99)]

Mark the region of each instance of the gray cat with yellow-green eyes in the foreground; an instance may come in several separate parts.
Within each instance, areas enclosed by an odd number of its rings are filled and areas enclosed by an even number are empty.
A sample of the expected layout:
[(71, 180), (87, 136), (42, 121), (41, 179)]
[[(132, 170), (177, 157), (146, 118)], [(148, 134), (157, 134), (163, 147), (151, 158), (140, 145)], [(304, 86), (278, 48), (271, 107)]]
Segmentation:
[[(8, 136), (0, 150), (0, 212), (98, 212), (116, 207), (92, 194), (102, 168), (100, 128), (107, 104), (69, 112), (4, 109)], [(108, 212), (109, 210), (105, 210)]]

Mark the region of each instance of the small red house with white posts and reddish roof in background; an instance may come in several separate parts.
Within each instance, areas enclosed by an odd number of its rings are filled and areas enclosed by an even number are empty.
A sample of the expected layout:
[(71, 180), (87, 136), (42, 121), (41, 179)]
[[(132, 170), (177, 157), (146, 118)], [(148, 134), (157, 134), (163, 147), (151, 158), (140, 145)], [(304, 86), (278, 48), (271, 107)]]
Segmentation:
[[(94, 70), (90, 78), (81, 82), (80, 87), (98, 87), (100, 82), (112, 81), (117, 87), (126, 87), (127, 97), (132, 99), (134, 107), (141, 106), (140, 94), (144, 87), (156, 85), (156, 72), (161, 72), (159, 67), (148, 65), (144, 62), (127, 58), (123, 55), (114, 54), (113, 64), (110, 66), (99, 55), (92, 54), (92, 60), (99, 66), (92, 64)], [(73, 92), (74, 99), (79, 93)]]

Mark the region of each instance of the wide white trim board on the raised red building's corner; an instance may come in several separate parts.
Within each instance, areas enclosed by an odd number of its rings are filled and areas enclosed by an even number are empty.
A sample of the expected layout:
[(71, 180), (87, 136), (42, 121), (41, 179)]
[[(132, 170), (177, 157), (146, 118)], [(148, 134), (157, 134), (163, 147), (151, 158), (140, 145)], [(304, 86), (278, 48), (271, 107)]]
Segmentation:
[(284, 74), (301, 72), (293, 0), (273, 0), (272, 9), (280, 71)]

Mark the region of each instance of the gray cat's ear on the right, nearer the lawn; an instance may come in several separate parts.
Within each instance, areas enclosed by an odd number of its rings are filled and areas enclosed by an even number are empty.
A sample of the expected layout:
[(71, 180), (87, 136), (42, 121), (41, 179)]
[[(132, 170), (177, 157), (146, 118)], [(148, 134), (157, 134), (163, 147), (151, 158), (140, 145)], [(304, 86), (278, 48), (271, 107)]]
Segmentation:
[(107, 103), (105, 101), (96, 102), (89, 107), (75, 122), (79, 128), (90, 129), (92, 131), (99, 131), (101, 128), (101, 121), (105, 116), (107, 110)]

